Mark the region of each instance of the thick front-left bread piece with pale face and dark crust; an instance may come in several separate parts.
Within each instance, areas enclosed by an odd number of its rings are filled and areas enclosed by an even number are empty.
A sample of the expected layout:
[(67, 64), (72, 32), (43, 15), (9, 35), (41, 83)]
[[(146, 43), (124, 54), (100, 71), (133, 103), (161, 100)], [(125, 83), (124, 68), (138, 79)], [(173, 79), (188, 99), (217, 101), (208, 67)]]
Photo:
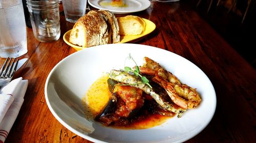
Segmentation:
[(95, 18), (91, 15), (80, 17), (72, 28), (69, 42), (82, 47), (99, 45), (99, 23), (94, 22)]

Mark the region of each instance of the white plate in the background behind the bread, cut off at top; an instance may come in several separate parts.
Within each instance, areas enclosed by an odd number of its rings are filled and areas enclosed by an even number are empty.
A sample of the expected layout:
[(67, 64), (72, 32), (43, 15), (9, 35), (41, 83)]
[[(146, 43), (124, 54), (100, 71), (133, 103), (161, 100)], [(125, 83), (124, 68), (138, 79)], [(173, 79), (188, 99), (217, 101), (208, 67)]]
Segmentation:
[(124, 0), (125, 7), (113, 7), (110, 5), (100, 5), (102, 3), (110, 3), (110, 0), (88, 0), (88, 3), (97, 9), (108, 10), (116, 14), (127, 14), (139, 12), (150, 7), (151, 3), (148, 0)]

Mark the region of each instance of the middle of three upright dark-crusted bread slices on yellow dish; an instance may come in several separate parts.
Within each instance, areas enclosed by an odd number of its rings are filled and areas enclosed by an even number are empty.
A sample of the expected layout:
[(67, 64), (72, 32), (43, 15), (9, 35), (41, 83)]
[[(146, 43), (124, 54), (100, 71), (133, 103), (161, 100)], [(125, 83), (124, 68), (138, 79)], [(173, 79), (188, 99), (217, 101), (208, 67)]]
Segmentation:
[[(108, 33), (108, 25), (106, 24), (105, 19), (94, 10), (88, 12), (88, 15), (94, 17), (95, 22), (99, 25), (99, 45), (108, 44), (109, 42), (109, 33)], [(96, 24), (95, 23), (95, 24)]]

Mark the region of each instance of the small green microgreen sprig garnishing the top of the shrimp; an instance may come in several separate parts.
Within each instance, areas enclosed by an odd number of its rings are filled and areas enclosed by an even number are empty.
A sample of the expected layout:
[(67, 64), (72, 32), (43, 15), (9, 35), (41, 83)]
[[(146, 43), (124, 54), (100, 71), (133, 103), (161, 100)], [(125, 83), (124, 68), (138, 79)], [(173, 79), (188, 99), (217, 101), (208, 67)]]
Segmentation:
[(152, 89), (152, 86), (150, 85), (150, 80), (148, 80), (145, 76), (142, 76), (142, 75), (140, 74), (140, 69), (139, 69), (137, 63), (135, 62), (135, 60), (133, 59), (131, 53), (129, 54), (129, 57), (128, 57), (128, 58), (131, 59), (131, 60), (133, 60), (133, 62), (135, 63), (135, 65), (136, 65), (136, 66), (135, 66), (135, 70), (133, 70), (133, 69), (130, 68), (130, 67), (124, 66), (124, 71), (126, 71), (126, 72), (131, 72), (131, 73), (133, 73), (133, 74), (134, 74), (135, 76), (137, 76), (137, 77), (139, 76), (139, 77), (141, 78), (141, 80), (142, 80), (142, 83), (148, 85), (148, 87), (150, 87), (150, 88)]

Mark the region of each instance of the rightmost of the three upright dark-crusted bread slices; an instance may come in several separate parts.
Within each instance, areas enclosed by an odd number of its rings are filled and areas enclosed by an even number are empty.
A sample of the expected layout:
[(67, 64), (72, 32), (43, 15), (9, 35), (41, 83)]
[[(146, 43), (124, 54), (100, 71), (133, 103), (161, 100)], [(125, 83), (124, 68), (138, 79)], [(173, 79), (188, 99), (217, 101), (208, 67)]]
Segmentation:
[(111, 32), (109, 32), (109, 34), (111, 35), (111, 38), (112, 38), (111, 43), (120, 42), (119, 26), (118, 26), (116, 16), (110, 11), (99, 10), (98, 12), (108, 17), (107, 23), (110, 25)]

